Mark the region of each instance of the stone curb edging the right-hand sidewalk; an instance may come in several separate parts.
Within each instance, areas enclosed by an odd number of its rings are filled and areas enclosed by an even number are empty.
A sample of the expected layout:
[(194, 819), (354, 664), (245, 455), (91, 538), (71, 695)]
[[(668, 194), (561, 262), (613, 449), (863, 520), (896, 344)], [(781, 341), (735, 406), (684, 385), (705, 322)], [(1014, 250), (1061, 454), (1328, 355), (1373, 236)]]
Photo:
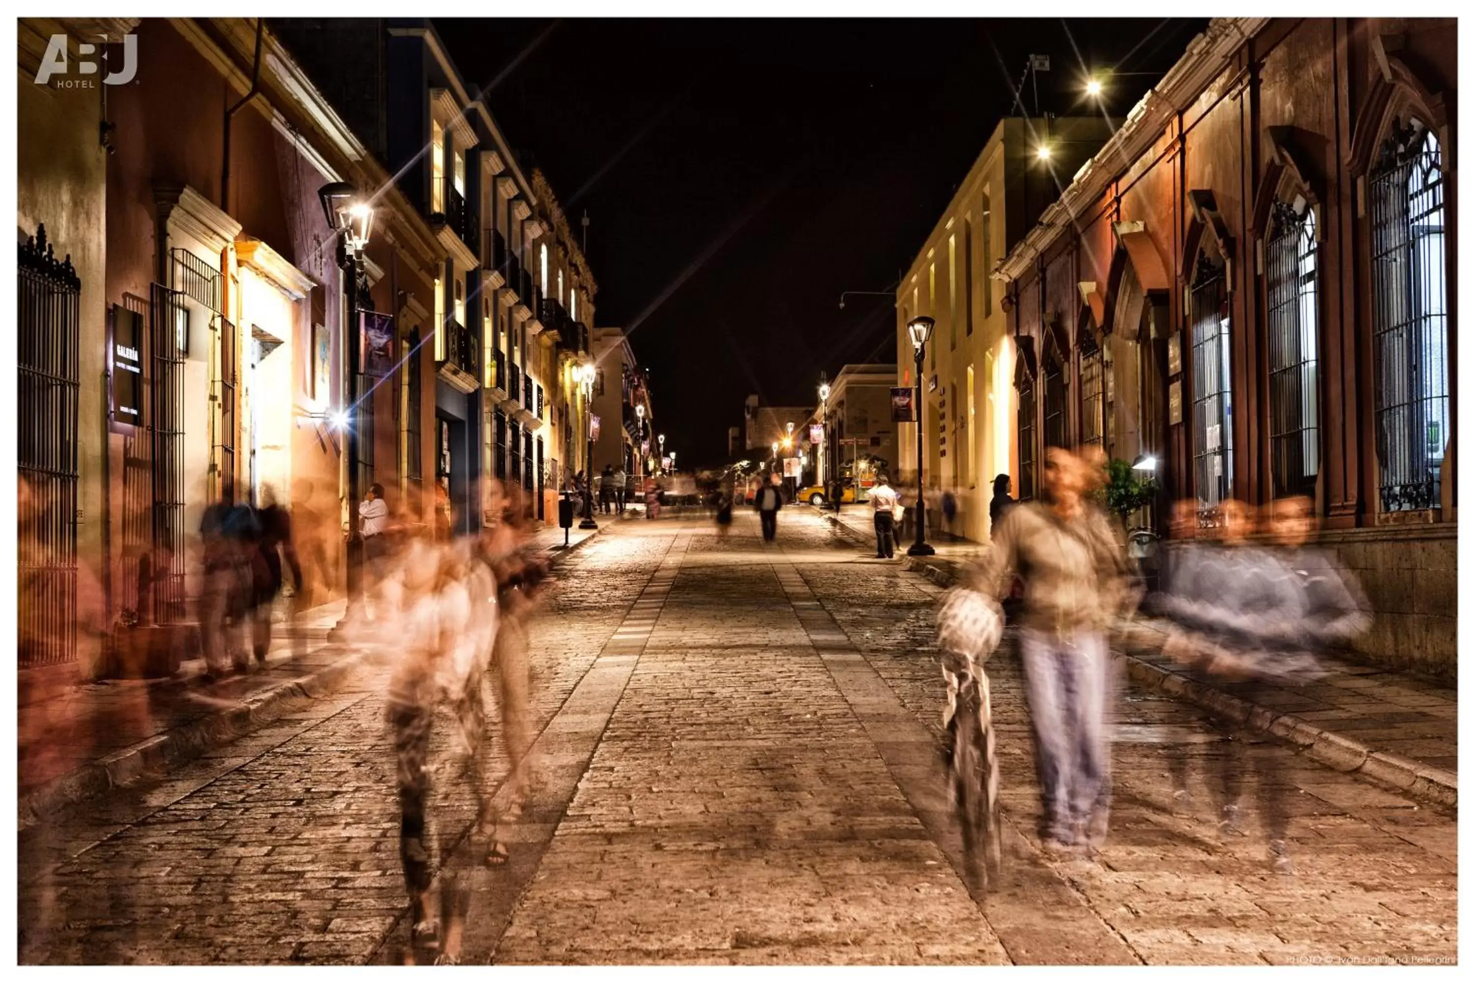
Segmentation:
[[(823, 516), (842, 532), (860, 539), (860, 534), (833, 516)], [(941, 563), (926, 557), (907, 557), (904, 569), (922, 573), (940, 587), (951, 587), (954, 576)], [(1150, 626), (1142, 626), (1155, 631)], [(1376, 752), (1367, 744), (1316, 727), (1295, 713), (1277, 713), (1273, 709), (1246, 703), (1212, 685), (1190, 679), (1155, 666), (1145, 659), (1122, 653), (1127, 674), (1159, 693), (1187, 700), (1210, 713), (1261, 734), (1271, 734), (1305, 750), (1307, 758), (1344, 774), (1357, 774), (1373, 781), (1392, 786), (1416, 799), (1444, 806), (1459, 805), (1459, 775), (1444, 768), (1434, 768), (1389, 752)]]

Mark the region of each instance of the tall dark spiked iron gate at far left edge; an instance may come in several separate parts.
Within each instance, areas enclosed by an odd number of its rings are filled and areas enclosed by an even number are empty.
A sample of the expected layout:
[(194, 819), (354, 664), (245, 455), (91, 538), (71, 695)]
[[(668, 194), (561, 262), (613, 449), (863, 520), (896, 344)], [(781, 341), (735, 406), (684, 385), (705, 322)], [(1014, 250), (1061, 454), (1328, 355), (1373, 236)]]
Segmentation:
[(18, 629), (22, 669), (77, 659), (81, 280), (46, 225), (19, 249)]

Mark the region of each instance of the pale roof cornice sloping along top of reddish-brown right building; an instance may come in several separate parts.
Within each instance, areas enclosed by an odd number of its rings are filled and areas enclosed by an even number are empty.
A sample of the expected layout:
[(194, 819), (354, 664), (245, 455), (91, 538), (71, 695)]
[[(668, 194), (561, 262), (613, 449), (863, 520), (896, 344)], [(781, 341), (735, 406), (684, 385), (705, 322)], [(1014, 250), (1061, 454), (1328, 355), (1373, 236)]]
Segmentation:
[(1215, 18), (1189, 41), (1183, 57), (1133, 106), (1127, 119), (1096, 156), (1086, 162), (1061, 197), (1044, 209), (1040, 221), (994, 271), (999, 280), (1018, 280), (1069, 228), (1075, 218), (1100, 200), (1117, 177), (1130, 168), (1162, 136), (1173, 116), (1186, 109), (1204, 88), (1232, 63), (1236, 52), (1270, 18)]

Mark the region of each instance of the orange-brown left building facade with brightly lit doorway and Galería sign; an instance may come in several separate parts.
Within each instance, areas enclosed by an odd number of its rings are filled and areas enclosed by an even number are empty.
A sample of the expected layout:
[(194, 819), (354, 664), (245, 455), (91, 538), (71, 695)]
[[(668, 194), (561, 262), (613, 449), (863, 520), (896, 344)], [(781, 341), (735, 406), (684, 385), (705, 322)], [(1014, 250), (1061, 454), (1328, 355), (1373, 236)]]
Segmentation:
[[(75, 47), (96, 29), (28, 22), (22, 72), (35, 71), (27, 37), (69, 35)], [(190, 625), (211, 503), (288, 504), (308, 559), (307, 603), (342, 595), (353, 503), (339, 420), (350, 410), (344, 345), (354, 333), (319, 189), (389, 183), (258, 22), (148, 19), (103, 29), (117, 41), (111, 49), (134, 46), (128, 84), (111, 87), (106, 100), (55, 81), (21, 93), (22, 108), (52, 106), (22, 113), (22, 146), (55, 140), (69, 99), (83, 118), (86, 106), (99, 108), (86, 119), (96, 147), (77, 146), (90, 167), (22, 156), (19, 209), (37, 243), (43, 225), (53, 242), (74, 240), (58, 245), (75, 251), (72, 268), (88, 279), (77, 277), (69, 324), (24, 305), (18, 329), (22, 351), (78, 352), (77, 377), (87, 380), (75, 416), (52, 405), (56, 393), (31, 392), (22, 408), (59, 423), (63, 444), (77, 435), (71, 475), (81, 504), (62, 522), (47, 491), (50, 519), (38, 536), (47, 550), (74, 538), (74, 579), (22, 595), (27, 616), (66, 625), (50, 632), (60, 644), (22, 656), (22, 666), (81, 676), (198, 651)], [(389, 189), (363, 261), (360, 308), (389, 318), (429, 309), (429, 273), (441, 256), (432, 230)], [(394, 393), (410, 380), (401, 371), (373, 382), (364, 380), (370, 395), (357, 414), (364, 479), (392, 483), (401, 438), (375, 421), (395, 419)], [(428, 441), (417, 451), (428, 455)]]

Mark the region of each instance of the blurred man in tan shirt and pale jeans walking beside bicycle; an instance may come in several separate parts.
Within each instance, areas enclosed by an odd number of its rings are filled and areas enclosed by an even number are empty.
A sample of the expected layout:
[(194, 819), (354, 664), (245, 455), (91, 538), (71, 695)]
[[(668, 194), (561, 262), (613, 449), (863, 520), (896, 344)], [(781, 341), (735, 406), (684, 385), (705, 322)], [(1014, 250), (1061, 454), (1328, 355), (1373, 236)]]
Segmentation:
[(1083, 491), (1084, 463), (1046, 451), (1043, 501), (1010, 508), (996, 548), (969, 572), (993, 598), (1024, 582), (1021, 654), (1035, 737), (1047, 850), (1099, 846), (1106, 800), (1109, 656), (1105, 631), (1127, 603), (1127, 564), (1103, 514)]

